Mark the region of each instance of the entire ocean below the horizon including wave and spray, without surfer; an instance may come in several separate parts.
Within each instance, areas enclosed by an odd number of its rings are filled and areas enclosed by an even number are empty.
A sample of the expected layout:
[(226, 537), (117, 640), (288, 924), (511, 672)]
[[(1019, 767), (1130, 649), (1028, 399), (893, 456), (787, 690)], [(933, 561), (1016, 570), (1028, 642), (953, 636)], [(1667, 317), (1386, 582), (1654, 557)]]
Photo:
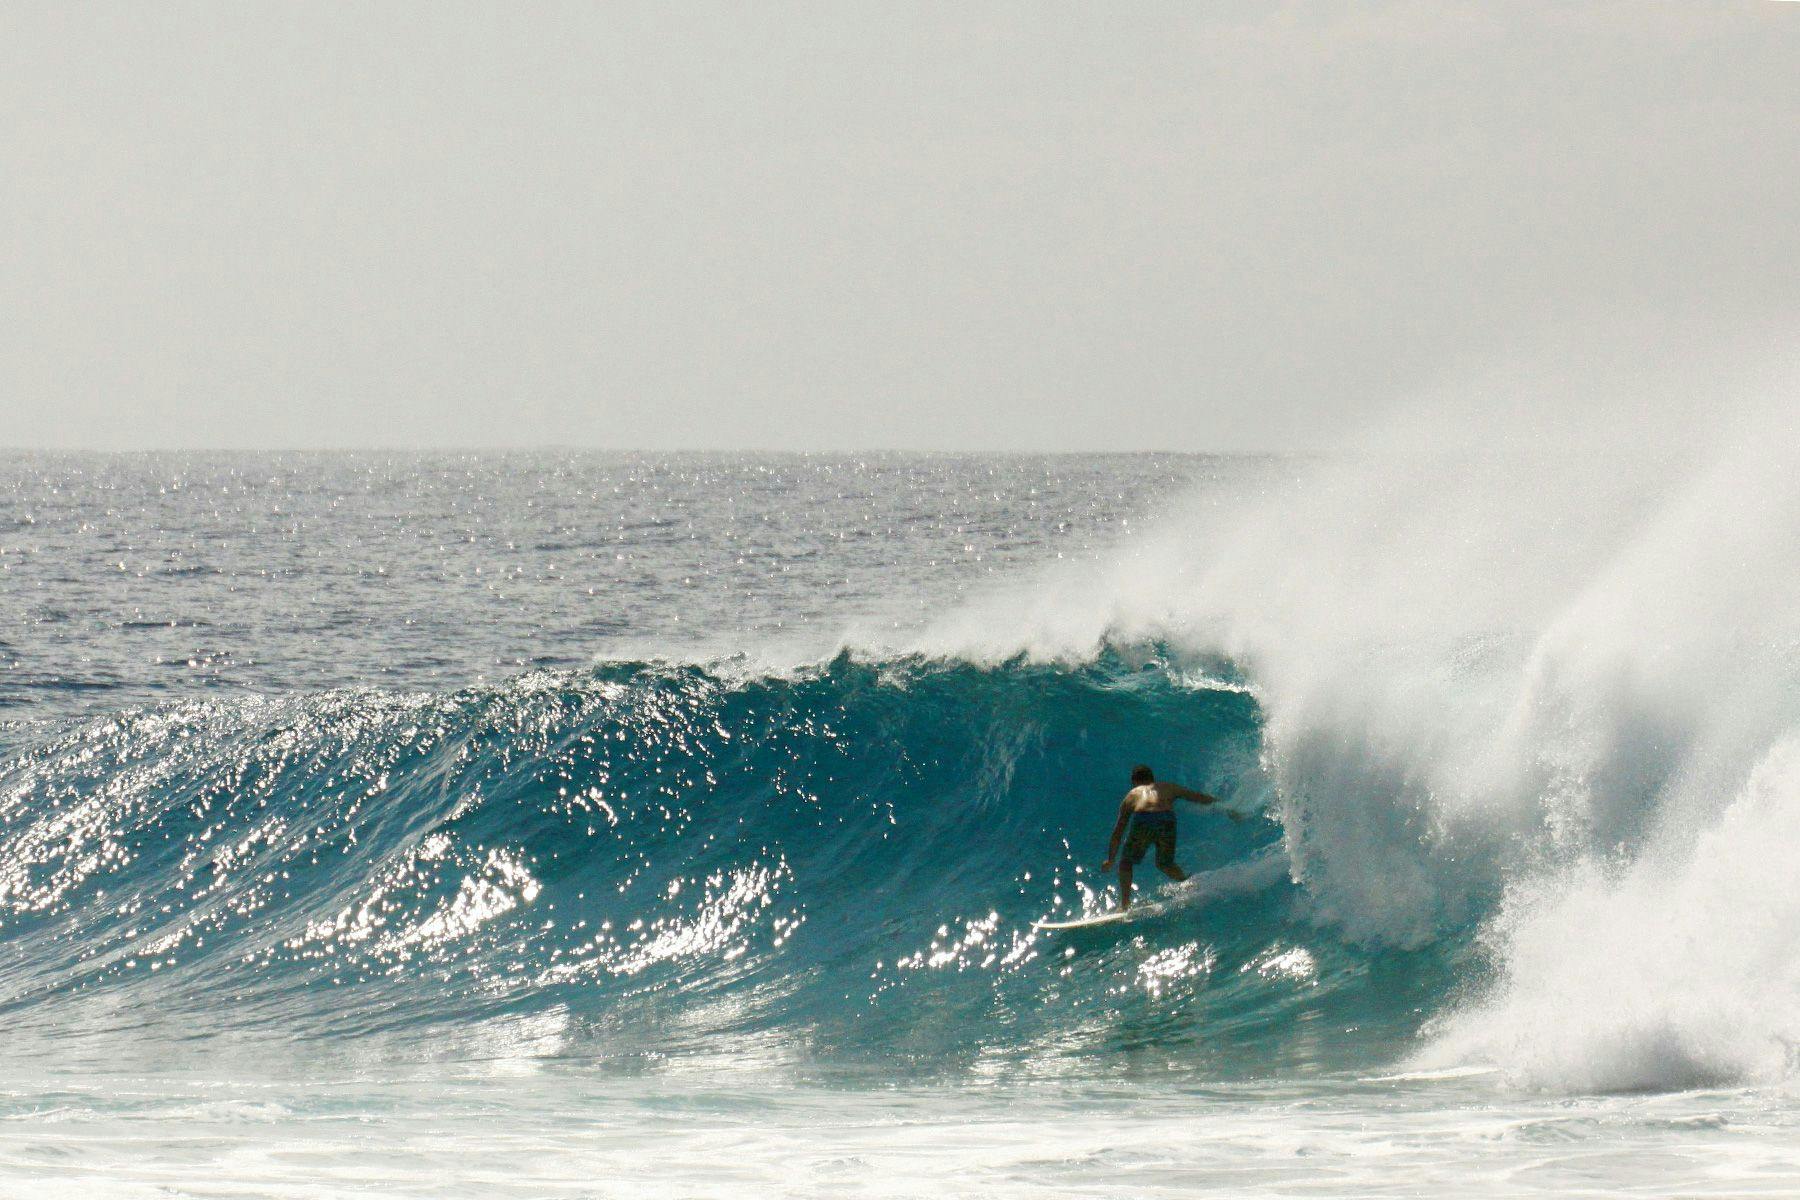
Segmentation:
[(1796, 480), (0, 455), (0, 1195), (1795, 1195)]

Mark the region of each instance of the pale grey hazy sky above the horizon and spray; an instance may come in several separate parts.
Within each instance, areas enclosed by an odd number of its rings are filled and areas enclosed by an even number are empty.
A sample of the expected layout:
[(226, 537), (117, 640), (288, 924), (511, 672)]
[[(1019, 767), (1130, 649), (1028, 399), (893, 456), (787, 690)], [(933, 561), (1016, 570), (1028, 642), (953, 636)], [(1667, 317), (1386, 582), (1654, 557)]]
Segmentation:
[(13, 446), (1294, 448), (1800, 315), (1800, 4), (9, 0), (0, 103)]

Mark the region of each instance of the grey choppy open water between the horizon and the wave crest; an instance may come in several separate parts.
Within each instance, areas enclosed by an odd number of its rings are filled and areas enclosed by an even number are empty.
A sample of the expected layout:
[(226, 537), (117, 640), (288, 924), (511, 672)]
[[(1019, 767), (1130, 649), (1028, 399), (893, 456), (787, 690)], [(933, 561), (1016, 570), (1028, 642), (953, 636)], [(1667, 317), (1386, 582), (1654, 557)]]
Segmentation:
[[(913, 626), (1256, 462), (0, 455), (0, 714), (502, 684)], [(1267, 470), (1264, 464), (1262, 470)]]

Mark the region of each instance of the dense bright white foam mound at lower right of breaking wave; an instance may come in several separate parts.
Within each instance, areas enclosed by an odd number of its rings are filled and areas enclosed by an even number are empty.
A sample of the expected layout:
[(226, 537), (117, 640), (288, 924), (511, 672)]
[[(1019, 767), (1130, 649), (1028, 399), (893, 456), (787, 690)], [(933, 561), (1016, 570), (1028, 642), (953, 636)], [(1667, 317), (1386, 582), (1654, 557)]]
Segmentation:
[(1517, 885), (1492, 939), (1505, 988), (1438, 1024), (1426, 1061), (1494, 1060), (1539, 1087), (1777, 1081), (1800, 1047), (1800, 743), (1773, 748), (1692, 842)]

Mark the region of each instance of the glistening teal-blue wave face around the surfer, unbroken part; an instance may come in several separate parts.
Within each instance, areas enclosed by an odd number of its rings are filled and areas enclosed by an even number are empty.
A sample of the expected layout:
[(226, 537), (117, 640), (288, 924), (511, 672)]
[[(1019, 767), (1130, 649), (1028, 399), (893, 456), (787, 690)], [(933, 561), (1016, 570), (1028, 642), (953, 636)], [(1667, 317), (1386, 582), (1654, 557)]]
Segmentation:
[(1125, 766), (1253, 810), (1260, 754), (1244, 689), (1111, 651), (131, 711), (0, 768), (0, 988), (65, 1052), (149, 1024), (884, 1074), (1391, 1054), (1429, 964), (1323, 932), (1271, 820), (1184, 811), (1166, 916), (1030, 930), (1103, 903)]

